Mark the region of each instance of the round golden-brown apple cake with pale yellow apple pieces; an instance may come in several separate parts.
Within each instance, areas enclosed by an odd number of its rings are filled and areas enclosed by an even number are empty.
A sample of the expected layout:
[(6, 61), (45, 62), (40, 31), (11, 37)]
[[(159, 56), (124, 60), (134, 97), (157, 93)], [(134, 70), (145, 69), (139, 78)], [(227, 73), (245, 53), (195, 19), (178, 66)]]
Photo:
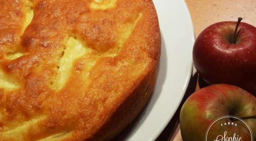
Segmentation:
[(152, 93), (152, 0), (0, 0), (0, 141), (109, 141)]

